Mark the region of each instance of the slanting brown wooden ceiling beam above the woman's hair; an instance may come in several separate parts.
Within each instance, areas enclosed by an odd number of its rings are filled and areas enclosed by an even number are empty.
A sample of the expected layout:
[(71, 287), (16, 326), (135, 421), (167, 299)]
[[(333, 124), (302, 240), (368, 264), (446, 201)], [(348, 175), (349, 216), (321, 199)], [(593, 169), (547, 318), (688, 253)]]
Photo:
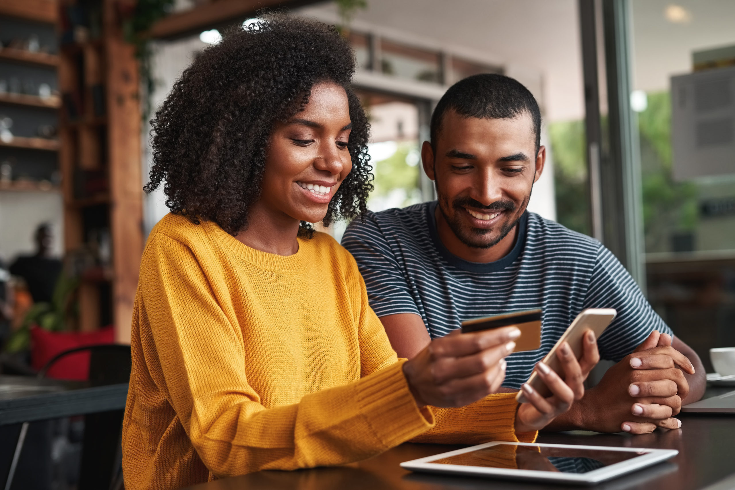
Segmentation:
[(153, 24), (149, 35), (171, 39), (198, 34), (207, 29), (221, 28), (254, 17), (262, 8), (276, 10), (316, 4), (325, 0), (218, 0), (201, 4), (191, 10), (176, 12)]

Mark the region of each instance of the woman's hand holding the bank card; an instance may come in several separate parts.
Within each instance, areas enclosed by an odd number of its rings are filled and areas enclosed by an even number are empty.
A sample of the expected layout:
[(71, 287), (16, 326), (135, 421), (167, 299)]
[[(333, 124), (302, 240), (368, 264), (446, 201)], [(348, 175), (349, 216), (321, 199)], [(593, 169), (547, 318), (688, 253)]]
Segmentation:
[(432, 341), (404, 364), (417, 405), (459, 407), (496, 392), (505, 379), (504, 358), (513, 352), (518, 336), (520, 330), (506, 327), (454, 331)]

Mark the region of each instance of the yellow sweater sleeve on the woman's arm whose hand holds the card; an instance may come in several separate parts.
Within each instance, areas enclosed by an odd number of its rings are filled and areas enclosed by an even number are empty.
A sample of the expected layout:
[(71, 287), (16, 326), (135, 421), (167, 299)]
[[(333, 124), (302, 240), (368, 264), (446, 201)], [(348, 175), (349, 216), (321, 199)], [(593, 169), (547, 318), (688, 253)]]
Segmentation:
[(160, 233), (147, 248), (138, 311), (140, 335), (154, 347), (144, 355), (159, 363), (155, 382), (218, 477), (358, 461), (431, 428), (395, 353), (359, 381), (265, 408), (248, 384), (240, 326), (216, 302), (196, 257)]

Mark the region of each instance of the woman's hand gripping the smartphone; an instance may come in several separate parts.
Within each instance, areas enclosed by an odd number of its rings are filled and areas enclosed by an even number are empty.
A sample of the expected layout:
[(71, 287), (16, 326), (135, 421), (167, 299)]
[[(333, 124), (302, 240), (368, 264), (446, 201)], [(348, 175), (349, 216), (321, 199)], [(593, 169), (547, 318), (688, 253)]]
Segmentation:
[(548, 425), (554, 417), (569, 410), (574, 400), (584, 397), (584, 380), (587, 379), (589, 371), (600, 361), (595, 334), (588, 330), (584, 334), (582, 342), (584, 353), (579, 361), (574, 356), (567, 342), (563, 342), (556, 356), (562, 361), (564, 367), (564, 379), (553, 372), (546, 364), (539, 362), (536, 371), (551, 390), (551, 397), (544, 398), (528, 383), (523, 384), (521, 389), (526, 395), (528, 403), (522, 403), (518, 407), (515, 416), (515, 431), (531, 432), (540, 430)]

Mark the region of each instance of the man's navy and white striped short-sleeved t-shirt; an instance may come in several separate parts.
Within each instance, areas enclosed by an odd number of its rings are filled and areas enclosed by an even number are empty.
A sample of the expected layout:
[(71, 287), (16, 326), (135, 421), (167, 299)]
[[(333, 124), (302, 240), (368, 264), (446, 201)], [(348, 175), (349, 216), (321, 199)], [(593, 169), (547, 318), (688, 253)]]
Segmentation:
[(487, 264), (450, 253), (437, 234), (437, 202), (369, 212), (342, 245), (355, 257), (379, 317), (415, 313), (432, 339), (463, 320), (541, 308), (541, 348), (513, 353), (503, 386), (520, 389), (534, 365), (586, 308), (614, 308), (598, 339), (602, 359), (620, 361), (653, 330), (672, 334), (631, 275), (595, 239), (526, 212), (512, 251)]

